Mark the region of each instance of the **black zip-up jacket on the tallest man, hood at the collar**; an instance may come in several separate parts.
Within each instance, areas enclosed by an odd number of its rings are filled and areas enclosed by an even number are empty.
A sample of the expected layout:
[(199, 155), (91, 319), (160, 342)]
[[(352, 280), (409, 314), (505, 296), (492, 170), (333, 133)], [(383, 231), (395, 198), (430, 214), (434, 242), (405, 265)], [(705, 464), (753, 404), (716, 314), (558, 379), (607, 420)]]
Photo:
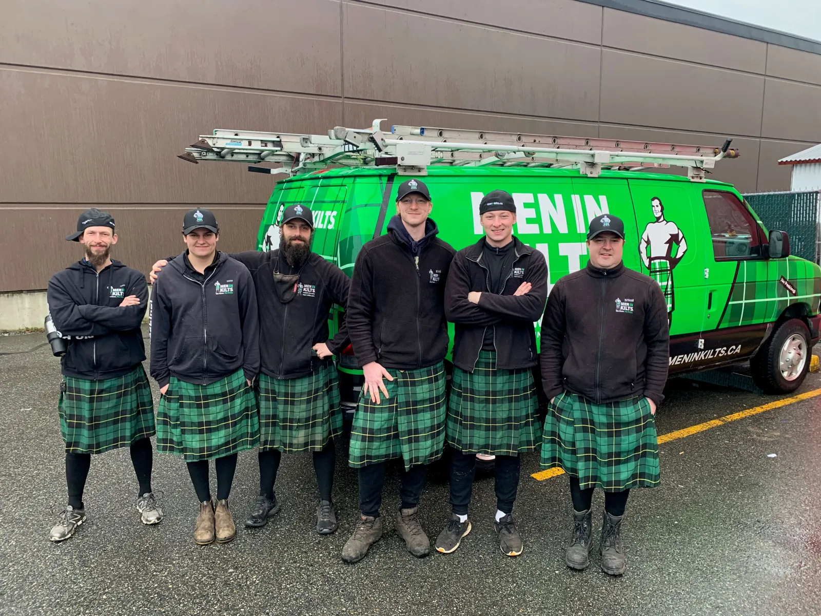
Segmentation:
[(394, 216), (388, 233), (356, 257), (346, 320), (360, 366), (378, 361), (411, 370), (447, 355), (445, 281), (456, 251), (436, 237), (436, 223), (428, 218), (414, 256), (397, 224), (401, 219)]

